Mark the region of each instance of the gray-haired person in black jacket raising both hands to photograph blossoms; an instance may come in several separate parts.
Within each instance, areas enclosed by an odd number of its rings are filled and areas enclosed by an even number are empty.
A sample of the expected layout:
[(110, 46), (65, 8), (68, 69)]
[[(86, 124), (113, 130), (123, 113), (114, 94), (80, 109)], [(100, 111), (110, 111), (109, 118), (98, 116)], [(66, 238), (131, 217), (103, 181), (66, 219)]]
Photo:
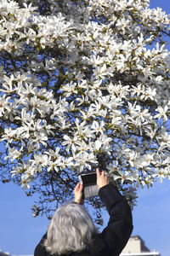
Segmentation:
[(34, 256), (118, 256), (133, 230), (132, 212), (116, 187), (108, 182), (105, 172), (97, 173), (99, 197), (110, 219), (99, 233), (88, 212), (82, 207), (83, 184), (74, 189), (75, 202), (54, 212), (48, 232), (38, 243)]

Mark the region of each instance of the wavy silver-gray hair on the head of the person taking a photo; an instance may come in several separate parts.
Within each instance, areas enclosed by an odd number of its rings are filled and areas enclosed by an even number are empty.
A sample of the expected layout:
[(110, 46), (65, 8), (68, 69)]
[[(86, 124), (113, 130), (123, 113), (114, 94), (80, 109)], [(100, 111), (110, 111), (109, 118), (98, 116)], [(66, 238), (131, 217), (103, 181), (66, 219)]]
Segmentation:
[(80, 252), (89, 247), (96, 234), (97, 229), (85, 208), (70, 202), (54, 212), (44, 246), (51, 254)]

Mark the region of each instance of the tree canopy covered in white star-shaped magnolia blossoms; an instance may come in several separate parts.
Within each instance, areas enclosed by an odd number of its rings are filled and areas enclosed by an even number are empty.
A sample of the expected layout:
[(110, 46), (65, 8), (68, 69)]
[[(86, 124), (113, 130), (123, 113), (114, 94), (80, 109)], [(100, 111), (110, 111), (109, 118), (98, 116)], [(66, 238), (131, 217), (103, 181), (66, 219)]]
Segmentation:
[(169, 25), (149, 0), (0, 0), (1, 177), (35, 216), (96, 166), (132, 204), (170, 178)]

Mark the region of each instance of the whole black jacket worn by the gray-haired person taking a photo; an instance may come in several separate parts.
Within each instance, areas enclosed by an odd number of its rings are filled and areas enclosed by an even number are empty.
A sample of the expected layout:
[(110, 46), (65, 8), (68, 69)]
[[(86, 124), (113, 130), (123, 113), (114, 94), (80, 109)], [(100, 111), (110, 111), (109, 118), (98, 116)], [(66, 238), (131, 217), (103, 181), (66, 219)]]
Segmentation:
[[(109, 222), (106, 228), (95, 237), (88, 251), (71, 253), (70, 256), (118, 256), (127, 244), (133, 230), (132, 213), (127, 201), (111, 184), (99, 189), (99, 196), (110, 214)], [(34, 256), (51, 256), (42, 245), (46, 237), (47, 233), (38, 243)]]

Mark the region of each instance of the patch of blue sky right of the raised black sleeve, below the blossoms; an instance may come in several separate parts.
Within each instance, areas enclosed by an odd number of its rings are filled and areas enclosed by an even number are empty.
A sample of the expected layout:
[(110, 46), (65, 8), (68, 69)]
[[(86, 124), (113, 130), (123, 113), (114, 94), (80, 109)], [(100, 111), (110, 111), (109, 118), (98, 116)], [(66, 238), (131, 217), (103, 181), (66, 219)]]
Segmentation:
[(138, 206), (133, 210), (133, 236), (139, 235), (150, 250), (169, 256), (170, 180), (139, 190)]

